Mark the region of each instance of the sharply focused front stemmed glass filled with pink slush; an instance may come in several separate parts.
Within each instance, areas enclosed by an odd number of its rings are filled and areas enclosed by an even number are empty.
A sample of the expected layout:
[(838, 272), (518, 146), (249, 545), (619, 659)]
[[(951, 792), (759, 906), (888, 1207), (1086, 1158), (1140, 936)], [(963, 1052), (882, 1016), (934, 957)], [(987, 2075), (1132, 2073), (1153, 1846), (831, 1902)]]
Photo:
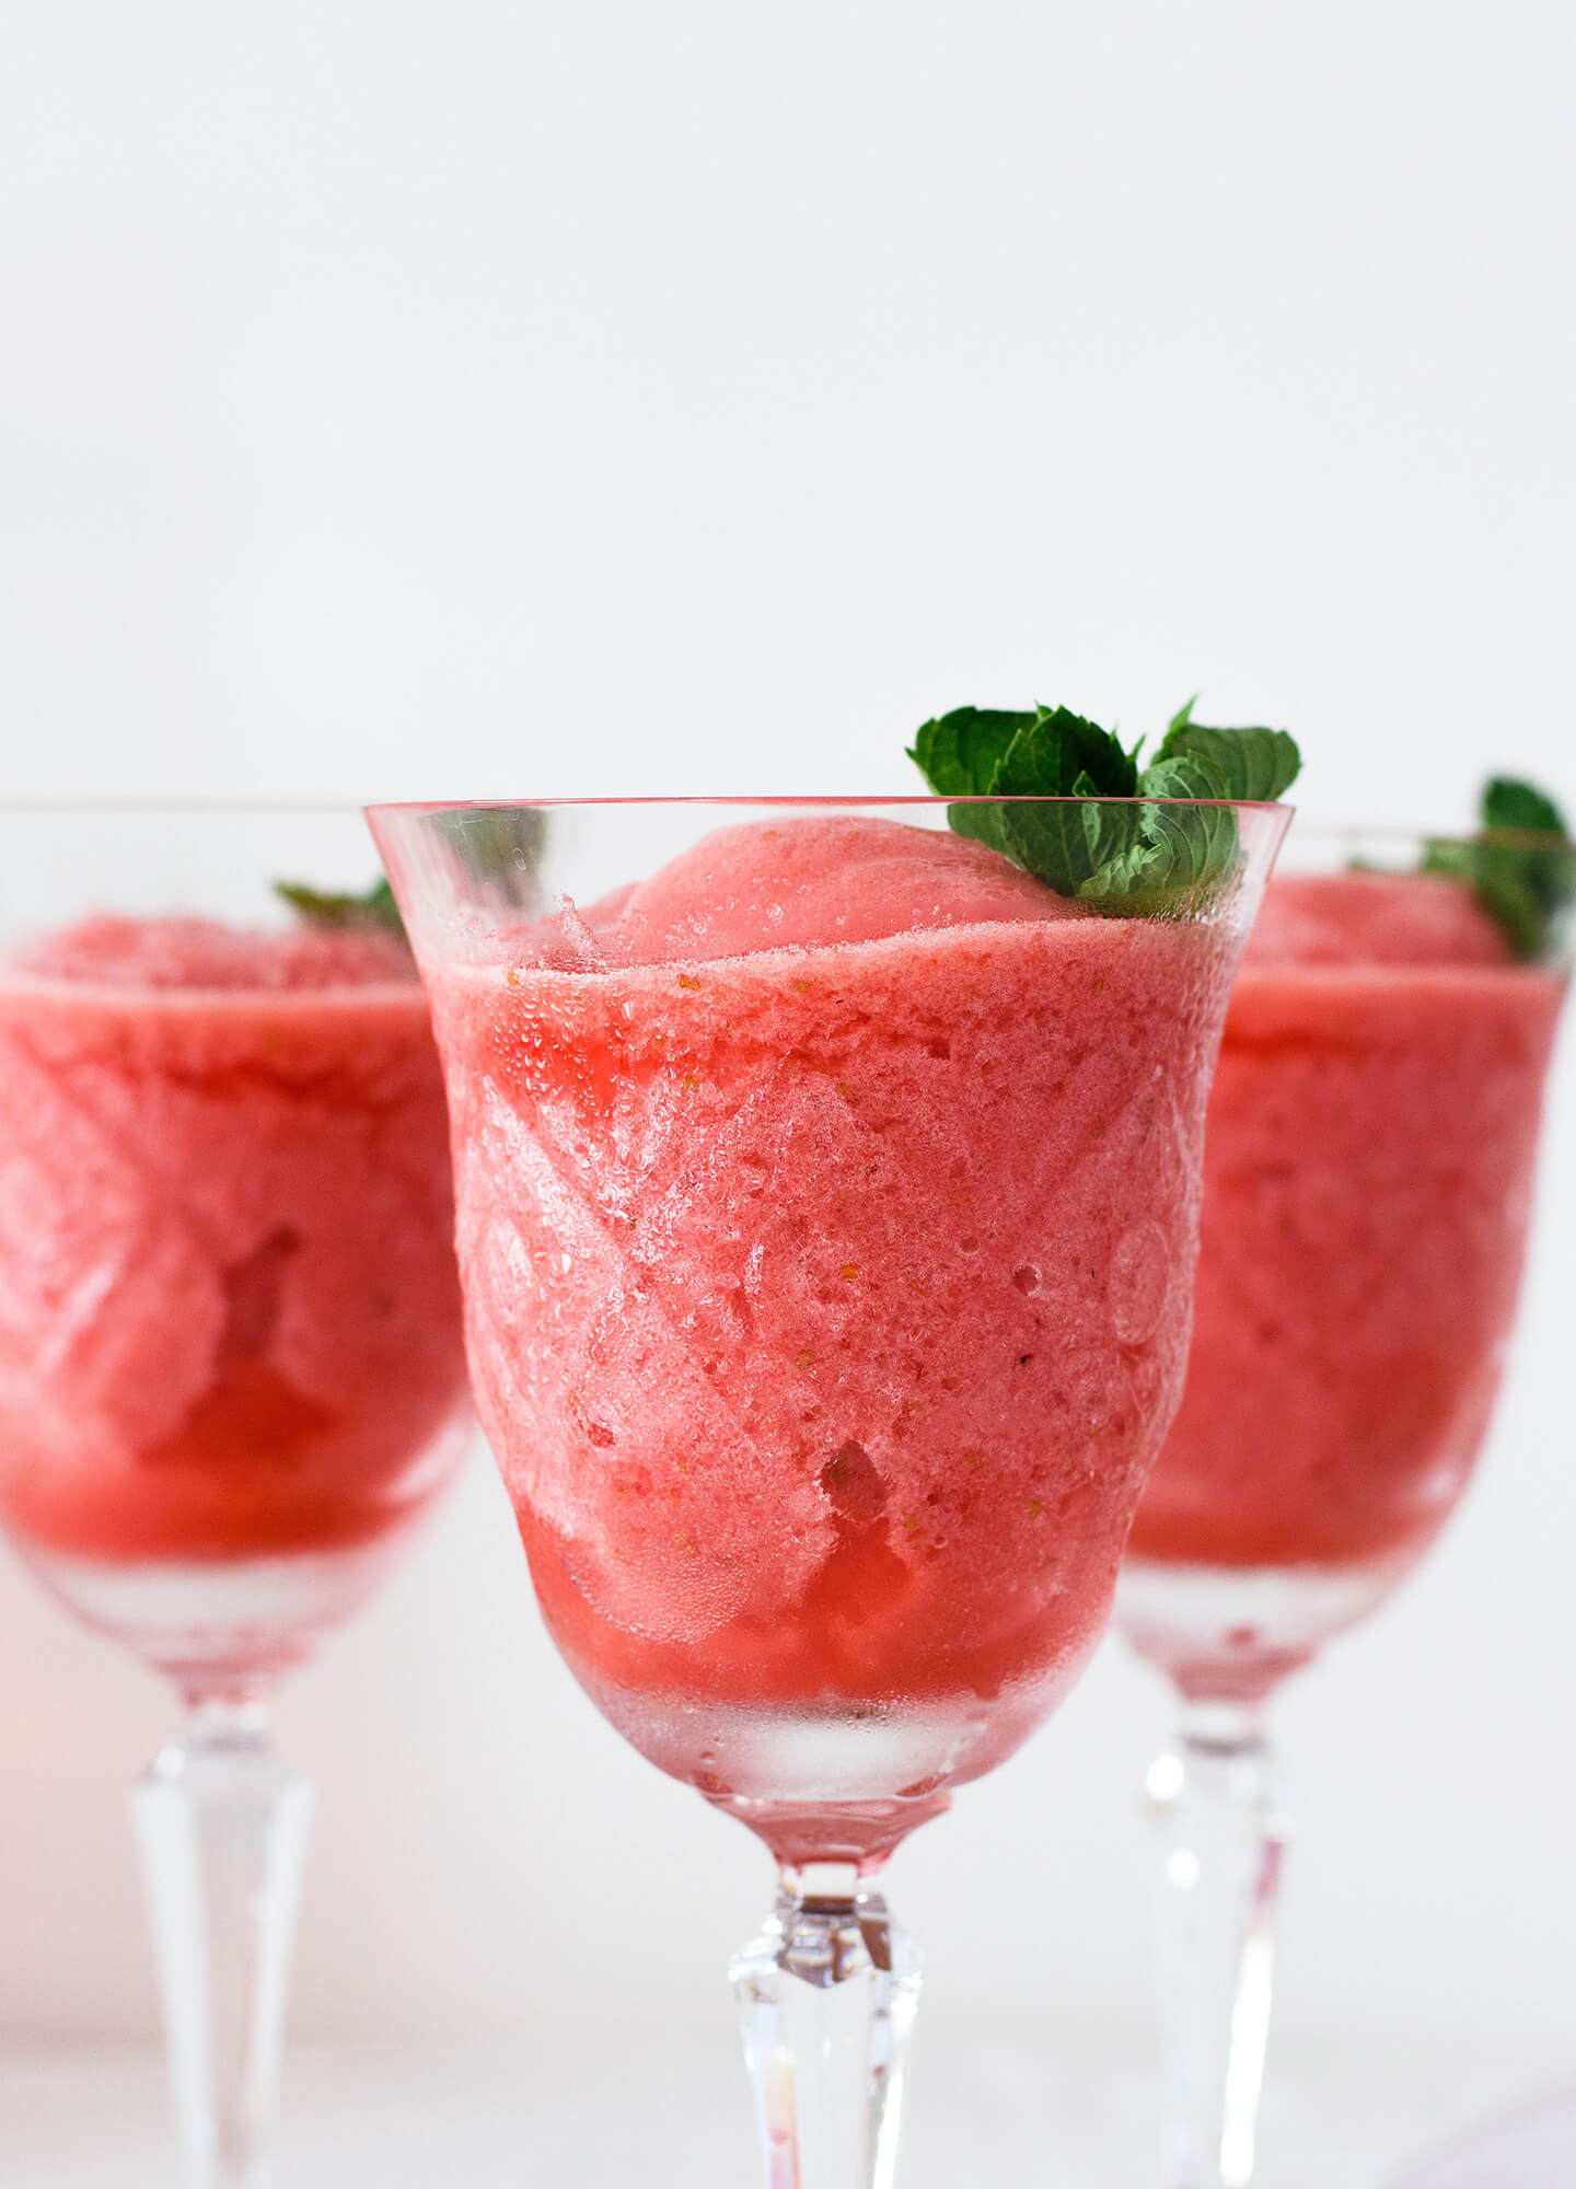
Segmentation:
[(1143, 825), (1232, 852), (1101, 917), (937, 799), (372, 812), (547, 1626), (779, 1865), (733, 1961), (773, 2189), (891, 2182), (919, 1972), (882, 1863), (1077, 1677), (1175, 1405), (1285, 810)]

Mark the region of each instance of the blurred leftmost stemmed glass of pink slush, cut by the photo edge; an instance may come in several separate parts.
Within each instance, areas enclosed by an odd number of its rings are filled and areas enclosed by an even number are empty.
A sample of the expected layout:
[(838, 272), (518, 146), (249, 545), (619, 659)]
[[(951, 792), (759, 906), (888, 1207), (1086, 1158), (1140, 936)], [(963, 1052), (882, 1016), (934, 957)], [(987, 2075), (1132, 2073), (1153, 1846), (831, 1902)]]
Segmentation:
[(193, 2189), (265, 2178), (276, 1683), (466, 1443), (427, 1003), (333, 893), (372, 865), (355, 810), (0, 810), (0, 1524), (184, 1705), (134, 1821)]

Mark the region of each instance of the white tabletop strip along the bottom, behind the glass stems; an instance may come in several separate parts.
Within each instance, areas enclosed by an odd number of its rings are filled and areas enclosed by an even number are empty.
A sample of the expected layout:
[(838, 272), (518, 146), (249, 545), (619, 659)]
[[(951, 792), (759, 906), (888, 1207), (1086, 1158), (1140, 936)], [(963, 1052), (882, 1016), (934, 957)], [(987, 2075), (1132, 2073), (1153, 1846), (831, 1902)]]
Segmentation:
[[(1149, 2064), (1116, 2045), (932, 2029), (919, 2042), (902, 2189), (1149, 2189)], [(1447, 2058), (1383, 2080), (1283, 2060), (1256, 2189), (1379, 2189), (1464, 2126)], [(4, 2189), (175, 2189), (158, 2058), (0, 2038)], [(517, 2047), (298, 2042), (274, 2189), (755, 2189), (729, 2031), (609, 2027)]]

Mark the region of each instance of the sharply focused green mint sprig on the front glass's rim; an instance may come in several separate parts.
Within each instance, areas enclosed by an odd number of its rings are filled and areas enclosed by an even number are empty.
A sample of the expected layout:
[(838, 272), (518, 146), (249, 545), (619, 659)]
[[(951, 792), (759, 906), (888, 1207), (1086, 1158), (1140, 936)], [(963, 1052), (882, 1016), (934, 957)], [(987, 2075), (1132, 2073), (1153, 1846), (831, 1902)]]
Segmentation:
[[(1066, 707), (954, 707), (924, 722), (908, 757), (946, 799), (1066, 799), (1064, 806), (948, 806), (948, 825), (1103, 913), (1178, 913), (1239, 865), (1230, 801), (1276, 799), (1300, 755), (1283, 729), (1206, 729), (1193, 700), (1138, 768), (1097, 722)], [(1158, 801), (1215, 799), (1217, 806)], [(1127, 803), (1110, 803), (1127, 801)]]

